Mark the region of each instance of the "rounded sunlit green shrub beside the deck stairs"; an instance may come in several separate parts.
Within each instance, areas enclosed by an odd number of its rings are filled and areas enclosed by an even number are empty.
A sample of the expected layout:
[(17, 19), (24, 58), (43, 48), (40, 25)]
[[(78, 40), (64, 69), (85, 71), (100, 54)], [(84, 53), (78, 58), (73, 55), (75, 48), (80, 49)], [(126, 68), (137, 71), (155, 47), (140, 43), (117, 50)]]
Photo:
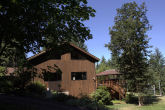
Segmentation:
[(111, 104), (111, 96), (106, 87), (99, 87), (94, 93), (91, 94), (91, 96), (93, 100), (98, 102), (98, 104)]

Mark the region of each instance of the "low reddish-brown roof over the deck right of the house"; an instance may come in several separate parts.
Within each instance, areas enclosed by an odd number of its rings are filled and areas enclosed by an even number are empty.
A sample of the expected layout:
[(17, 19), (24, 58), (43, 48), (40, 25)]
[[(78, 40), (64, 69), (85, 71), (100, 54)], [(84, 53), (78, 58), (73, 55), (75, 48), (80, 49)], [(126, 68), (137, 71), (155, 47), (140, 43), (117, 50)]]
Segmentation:
[(101, 73), (98, 73), (96, 74), (96, 76), (119, 75), (119, 74), (121, 73), (119, 73), (117, 70), (111, 69), (111, 70), (106, 70)]

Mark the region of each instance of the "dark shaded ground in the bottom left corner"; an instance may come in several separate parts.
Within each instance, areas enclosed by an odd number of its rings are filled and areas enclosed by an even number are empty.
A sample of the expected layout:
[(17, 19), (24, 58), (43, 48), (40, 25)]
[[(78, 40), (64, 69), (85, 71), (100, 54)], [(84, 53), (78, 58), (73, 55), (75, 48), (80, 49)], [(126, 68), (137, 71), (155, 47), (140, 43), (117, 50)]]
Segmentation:
[(0, 110), (81, 110), (42, 98), (0, 95)]

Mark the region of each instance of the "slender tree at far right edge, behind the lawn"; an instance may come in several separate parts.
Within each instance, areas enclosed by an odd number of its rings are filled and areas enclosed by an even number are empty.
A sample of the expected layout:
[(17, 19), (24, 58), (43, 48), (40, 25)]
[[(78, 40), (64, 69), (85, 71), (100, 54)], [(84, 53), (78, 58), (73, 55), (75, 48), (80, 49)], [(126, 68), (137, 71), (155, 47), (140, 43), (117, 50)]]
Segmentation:
[(151, 54), (149, 64), (150, 72), (152, 71), (153, 84), (157, 85), (156, 89), (158, 88), (159, 94), (162, 95), (162, 84), (165, 81), (165, 78), (163, 77), (165, 74), (165, 59), (158, 48), (156, 48), (155, 52)]

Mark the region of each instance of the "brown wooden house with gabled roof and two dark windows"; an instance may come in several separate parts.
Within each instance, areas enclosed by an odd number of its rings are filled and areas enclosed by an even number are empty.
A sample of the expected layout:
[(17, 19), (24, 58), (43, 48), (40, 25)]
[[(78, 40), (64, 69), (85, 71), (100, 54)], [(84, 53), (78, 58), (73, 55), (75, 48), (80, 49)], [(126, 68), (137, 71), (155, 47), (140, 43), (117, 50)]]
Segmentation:
[(43, 78), (48, 90), (62, 91), (69, 95), (88, 95), (96, 89), (95, 62), (99, 59), (83, 49), (65, 44), (49, 51), (42, 51), (28, 61)]

